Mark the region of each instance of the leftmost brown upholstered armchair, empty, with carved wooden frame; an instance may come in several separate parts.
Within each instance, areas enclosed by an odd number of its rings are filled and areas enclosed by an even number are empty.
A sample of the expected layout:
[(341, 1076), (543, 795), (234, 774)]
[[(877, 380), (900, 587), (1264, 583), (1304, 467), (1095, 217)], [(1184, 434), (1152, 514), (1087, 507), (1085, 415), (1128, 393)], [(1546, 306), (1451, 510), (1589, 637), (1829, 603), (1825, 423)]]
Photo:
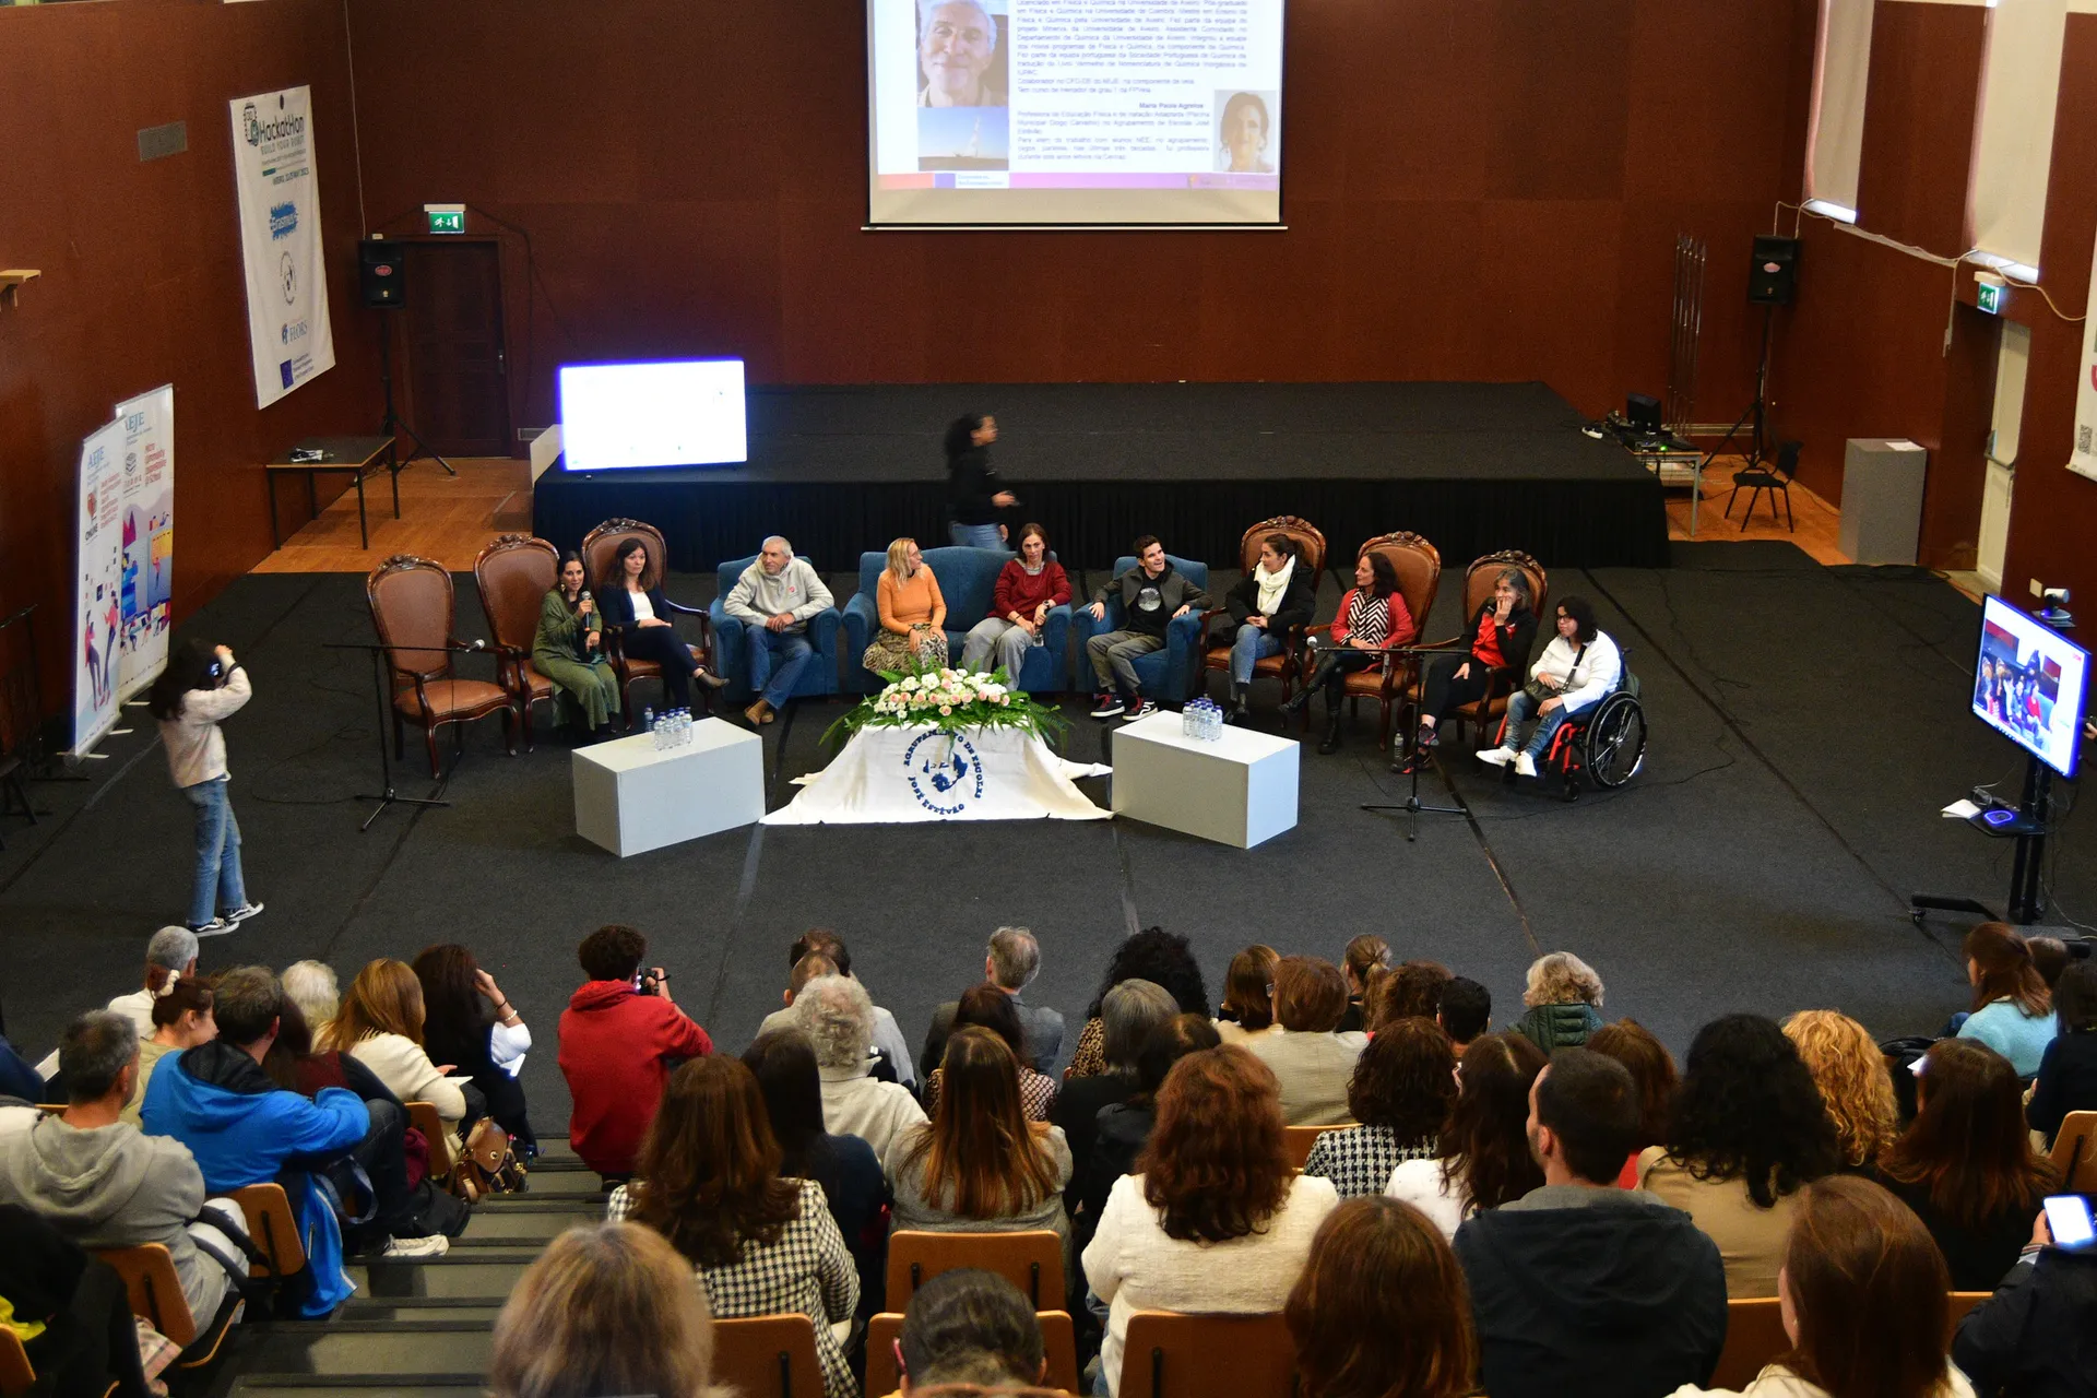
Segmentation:
[(440, 778), (445, 769), (436, 759), (436, 729), (491, 713), (503, 717), (503, 740), (516, 757), (518, 715), (510, 694), (484, 679), (459, 679), (453, 673), (453, 652), (445, 648), (459, 639), (451, 633), (453, 589), (442, 564), (394, 553), (365, 576), (365, 602), (392, 671), (394, 757), (401, 757), (401, 725), (413, 723), (430, 748), (430, 776)]

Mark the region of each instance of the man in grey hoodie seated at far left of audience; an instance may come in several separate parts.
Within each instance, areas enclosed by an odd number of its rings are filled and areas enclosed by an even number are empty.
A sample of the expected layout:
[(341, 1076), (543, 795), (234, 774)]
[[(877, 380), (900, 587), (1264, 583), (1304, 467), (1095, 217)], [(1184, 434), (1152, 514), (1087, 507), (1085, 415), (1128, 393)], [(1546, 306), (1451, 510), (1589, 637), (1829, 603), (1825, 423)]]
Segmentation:
[[(191, 1318), (208, 1331), (226, 1270), (197, 1239), (229, 1260), (241, 1253), (210, 1224), (191, 1226), (203, 1211), (203, 1172), (189, 1146), (117, 1117), (138, 1088), (138, 1029), (120, 1012), (82, 1014), (59, 1040), (59, 1071), (65, 1113), (0, 1140), (0, 1203), (23, 1205), (86, 1249), (164, 1245)], [(220, 1203), (239, 1218), (237, 1203)]]

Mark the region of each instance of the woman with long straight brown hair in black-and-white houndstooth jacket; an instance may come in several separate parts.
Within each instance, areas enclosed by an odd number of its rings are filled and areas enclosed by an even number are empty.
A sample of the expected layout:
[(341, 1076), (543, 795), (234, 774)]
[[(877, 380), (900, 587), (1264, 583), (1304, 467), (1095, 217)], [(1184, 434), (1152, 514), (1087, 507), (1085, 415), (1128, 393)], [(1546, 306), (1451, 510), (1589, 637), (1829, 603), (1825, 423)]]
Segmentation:
[(654, 1228), (684, 1253), (715, 1318), (803, 1314), (828, 1398), (860, 1392), (841, 1335), (860, 1304), (860, 1272), (822, 1184), (780, 1176), (757, 1077), (740, 1058), (692, 1058), (669, 1077), (648, 1123), (637, 1174), (612, 1191), (606, 1218)]

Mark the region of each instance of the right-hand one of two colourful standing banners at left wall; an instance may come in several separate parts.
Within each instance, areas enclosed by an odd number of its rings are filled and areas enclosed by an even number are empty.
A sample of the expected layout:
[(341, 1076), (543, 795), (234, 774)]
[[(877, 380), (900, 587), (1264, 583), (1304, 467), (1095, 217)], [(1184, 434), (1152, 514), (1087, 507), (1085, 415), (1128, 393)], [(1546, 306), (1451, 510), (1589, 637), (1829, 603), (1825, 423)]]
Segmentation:
[(117, 405), (124, 486), (117, 497), (124, 604), (117, 702), (168, 669), (174, 625), (174, 384)]

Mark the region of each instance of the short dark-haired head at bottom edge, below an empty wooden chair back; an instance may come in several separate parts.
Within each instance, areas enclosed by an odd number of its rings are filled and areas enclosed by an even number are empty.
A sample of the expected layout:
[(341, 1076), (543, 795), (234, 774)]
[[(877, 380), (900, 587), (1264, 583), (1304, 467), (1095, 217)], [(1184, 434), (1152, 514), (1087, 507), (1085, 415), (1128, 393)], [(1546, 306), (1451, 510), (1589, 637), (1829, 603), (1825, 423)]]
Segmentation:
[(935, 1388), (946, 1392), (948, 1383), (1004, 1390), (1048, 1377), (1034, 1302), (996, 1272), (977, 1268), (939, 1272), (910, 1293), (895, 1362), (904, 1398)]

